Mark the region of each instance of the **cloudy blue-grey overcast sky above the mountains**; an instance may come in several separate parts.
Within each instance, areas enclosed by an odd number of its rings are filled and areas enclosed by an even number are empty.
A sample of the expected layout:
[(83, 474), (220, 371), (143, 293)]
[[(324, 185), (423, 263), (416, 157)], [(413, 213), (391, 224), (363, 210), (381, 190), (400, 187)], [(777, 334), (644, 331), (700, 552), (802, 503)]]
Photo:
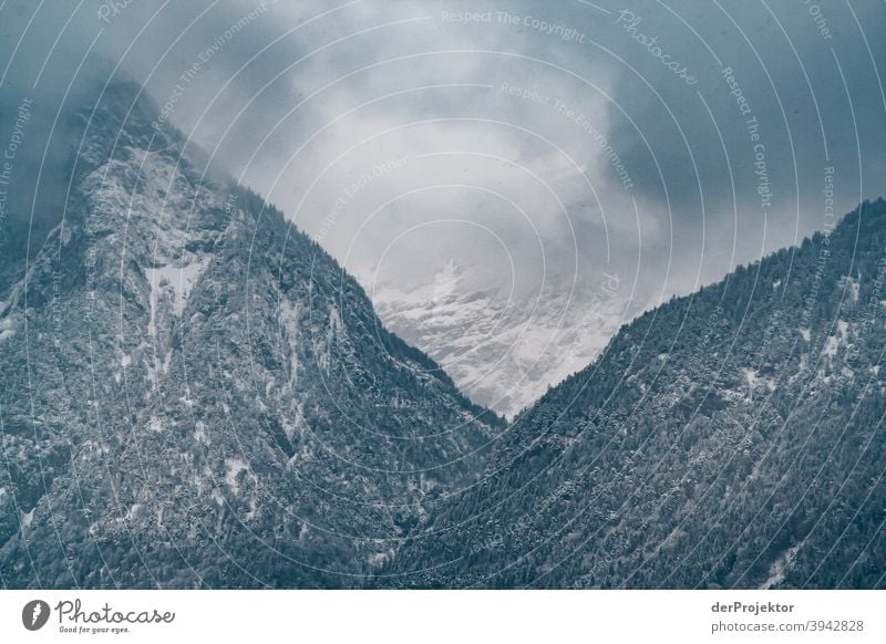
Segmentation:
[(822, 229), (828, 168), (837, 214), (886, 193), (885, 27), (879, 0), (0, 0), (0, 125), (132, 77), (370, 290), (455, 261), (581, 301), (609, 272), (636, 312)]

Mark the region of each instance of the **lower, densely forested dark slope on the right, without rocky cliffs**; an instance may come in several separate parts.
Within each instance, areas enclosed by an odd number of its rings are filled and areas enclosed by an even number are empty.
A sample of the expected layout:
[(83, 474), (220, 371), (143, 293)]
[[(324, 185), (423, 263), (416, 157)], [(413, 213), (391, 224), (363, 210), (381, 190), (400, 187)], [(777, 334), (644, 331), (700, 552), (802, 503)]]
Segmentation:
[(886, 201), (624, 326), (379, 584), (882, 588)]

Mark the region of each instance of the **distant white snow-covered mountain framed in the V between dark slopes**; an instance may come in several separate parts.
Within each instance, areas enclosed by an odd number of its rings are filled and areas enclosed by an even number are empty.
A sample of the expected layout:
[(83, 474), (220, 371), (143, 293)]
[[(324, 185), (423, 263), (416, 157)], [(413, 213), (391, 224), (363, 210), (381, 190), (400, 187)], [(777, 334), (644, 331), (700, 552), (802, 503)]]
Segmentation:
[(584, 368), (632, 316), (617, 273), (589, 288), (564, 279), (514, 295), (472, 290), (470, 270), (445, 260), (431, 283), (408, 291), (380, 284), (372, 299), (384, 323), (439, 362), (471, 399), (511, 418)]

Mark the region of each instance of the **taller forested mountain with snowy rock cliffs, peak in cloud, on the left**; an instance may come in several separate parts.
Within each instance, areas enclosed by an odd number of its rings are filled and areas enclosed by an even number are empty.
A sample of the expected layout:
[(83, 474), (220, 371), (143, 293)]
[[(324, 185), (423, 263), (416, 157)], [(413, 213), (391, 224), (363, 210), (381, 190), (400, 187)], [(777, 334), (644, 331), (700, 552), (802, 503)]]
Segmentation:
[(157, 116), (80, 113), (64, 220), (6, 267), (0, 584), (359, 585), (499, 420)]

